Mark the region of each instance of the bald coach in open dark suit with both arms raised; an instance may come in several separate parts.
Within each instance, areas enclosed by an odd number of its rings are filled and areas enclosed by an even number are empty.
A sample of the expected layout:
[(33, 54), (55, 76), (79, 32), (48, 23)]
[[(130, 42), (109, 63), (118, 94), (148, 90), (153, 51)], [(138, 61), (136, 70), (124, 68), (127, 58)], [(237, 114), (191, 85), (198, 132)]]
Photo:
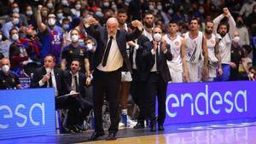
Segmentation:
[[(108, 97), (111, 125), (108, 129), (107, 140), (115, 140), (119, 128), (118, 94), (121, 83), (121, 67), (123, 64), (131, 72), (131, 64), (126, 53), (126, 42), (137, 38), (143, 32), (143, 24), (134, 20), (131, 25), (137, 27), (132, 33), (118, 30), (116, 18), (109, 18), (106, 27), (98, 26), (95, 18), (84, 21), (86, 32), (96, 38), (97, 48), (93, 61), (93, 105), (96, 120), (96, 130), (90, 140), (96, 140), (104, 135), (102, 128), (102, 105), (104, 94)], [(95, 29), (96, 28), (96, 29)]]

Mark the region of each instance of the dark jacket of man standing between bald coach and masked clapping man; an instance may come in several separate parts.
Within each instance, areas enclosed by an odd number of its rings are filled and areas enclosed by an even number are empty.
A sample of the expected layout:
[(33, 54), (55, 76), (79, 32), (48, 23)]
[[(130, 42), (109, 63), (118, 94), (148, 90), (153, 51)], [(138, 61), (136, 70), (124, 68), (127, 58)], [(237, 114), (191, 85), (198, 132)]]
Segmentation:
[[(136, 76), (137, 80), (141, 80), (141, 77), (143, 75), (143, 69), (145, 66), (145, 63), (143, 61), (143, 49), (146, 49), (145, 47), (147, 47), (147, 43), (149, 43), (149, 39), (148, 37), (145, 37), (143, 35), (137, 37), (137, 44), (138, 44), (138, 49), (137, 49), (137, 53), (136, 53), (136, 66), (137, 66), (137, 74), (138, 76)], [(130, 47), (130, 62), (131, 62), (131, 66), (133, 66), (133, 53), (134, 53), (134, 49), (133, 47)]]

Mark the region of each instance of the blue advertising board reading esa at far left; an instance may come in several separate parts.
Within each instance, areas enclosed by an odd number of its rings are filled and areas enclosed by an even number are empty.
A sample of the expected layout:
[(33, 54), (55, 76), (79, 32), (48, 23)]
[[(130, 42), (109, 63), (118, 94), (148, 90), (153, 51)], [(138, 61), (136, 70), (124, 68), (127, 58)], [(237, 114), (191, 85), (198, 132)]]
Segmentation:
[(0, 90), (0, 140), (53, 134), (54, 89)]

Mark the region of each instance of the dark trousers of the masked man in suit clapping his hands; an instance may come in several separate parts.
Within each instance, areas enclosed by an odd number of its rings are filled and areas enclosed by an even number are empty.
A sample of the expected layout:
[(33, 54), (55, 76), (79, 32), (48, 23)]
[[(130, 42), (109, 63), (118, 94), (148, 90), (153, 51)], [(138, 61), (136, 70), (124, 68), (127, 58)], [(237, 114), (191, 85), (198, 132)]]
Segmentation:
[(164, 124), (166, 119), (166, 89), (167, 84), (160, 73), (150, 72), (148, 81), (145, 84), (145, 92), (149, 96), (150, 120), (155, 118), (155, 98), (158, 101), (158, 124)]

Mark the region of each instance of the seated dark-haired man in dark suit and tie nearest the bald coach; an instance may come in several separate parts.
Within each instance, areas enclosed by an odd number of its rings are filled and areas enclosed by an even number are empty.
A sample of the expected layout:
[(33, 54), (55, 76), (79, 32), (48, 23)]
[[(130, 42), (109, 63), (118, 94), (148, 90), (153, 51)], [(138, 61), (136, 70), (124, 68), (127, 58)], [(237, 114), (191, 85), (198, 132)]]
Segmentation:
[(80, 69), (80, 61), (74, 59), (71, 61), (70, 71), (64, 72), (69, 89), (79, 93), (76, 97), (69, 97), (69, 103), (72, 103), (72, 105), (68, 107), (67, 128), (74, 132), (82, 130), (81, 125), (84, 122), (84, 118), (88, 116), (92, 109), (92, 104), (85, 97), (86, 76), (83, 72), (79, 72)]

